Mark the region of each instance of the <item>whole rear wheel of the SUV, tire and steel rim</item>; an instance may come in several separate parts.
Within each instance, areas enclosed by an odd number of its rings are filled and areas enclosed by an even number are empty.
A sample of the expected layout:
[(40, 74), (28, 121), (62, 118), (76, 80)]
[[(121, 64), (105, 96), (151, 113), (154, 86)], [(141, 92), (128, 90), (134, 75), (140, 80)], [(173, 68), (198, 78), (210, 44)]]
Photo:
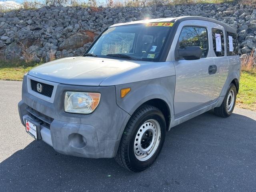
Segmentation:
[(232, 114), (236, 104), (236, 86), (231, 83), (220, 107), (214, 108), (217, 116), (228, 117)]

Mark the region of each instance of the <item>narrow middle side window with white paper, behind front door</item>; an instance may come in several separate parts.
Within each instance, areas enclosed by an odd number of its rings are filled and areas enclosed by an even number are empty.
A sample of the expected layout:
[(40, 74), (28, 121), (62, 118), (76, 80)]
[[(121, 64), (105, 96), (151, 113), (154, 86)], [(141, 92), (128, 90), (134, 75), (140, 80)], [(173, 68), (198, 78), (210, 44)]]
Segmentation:
[(212, 28), (213, 50), (217, 57), (225, 55), (224, 34), (220, 29)]

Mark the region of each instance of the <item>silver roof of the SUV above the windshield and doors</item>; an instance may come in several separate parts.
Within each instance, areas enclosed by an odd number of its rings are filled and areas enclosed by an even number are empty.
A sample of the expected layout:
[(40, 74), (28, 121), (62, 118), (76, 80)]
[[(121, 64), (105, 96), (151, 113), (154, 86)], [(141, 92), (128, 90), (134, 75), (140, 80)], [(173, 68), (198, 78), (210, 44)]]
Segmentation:
[(236, 30), (227, 24), (217, 21), (215, 19), (211, 18), (206, 18), (206, 17), (200, 17), (200, 16), (182, 16), (182, 17), (172, 17), (172, 18), (158, 18), (158, 19), (148, 19), (148, 20), (139, 20), (139, 21), (132, 21), (132, 22), (127, 22), (127, 23), (118, 23), (114, 24), (110, 27), (116, 27), (116, 26), (122, 26), (122, 25), (130, 25), (130, 24), (143, 24), (143, 23), (152, 23), (152, 22), (182, 22), (184, 20), (204, 20), (204, 21), (209, 21), (209, 22), (214, 22), (216, 24), (219, 24), (225, 28), (226, 31), (232, 32), (236, 34)]

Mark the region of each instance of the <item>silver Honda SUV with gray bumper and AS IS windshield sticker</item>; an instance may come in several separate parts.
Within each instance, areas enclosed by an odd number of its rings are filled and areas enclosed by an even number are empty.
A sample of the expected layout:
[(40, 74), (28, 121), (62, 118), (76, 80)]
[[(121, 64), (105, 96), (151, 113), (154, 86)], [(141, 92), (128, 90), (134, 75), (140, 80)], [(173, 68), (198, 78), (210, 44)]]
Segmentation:
[(239, 89), (236, 31), (203, 17), (114, 24), (84, 56), (24, 76), (18, 104), (26, 132), (62, 154), (116, 158), (139, 172), (166, 131), (214, 109), (228, 117)]

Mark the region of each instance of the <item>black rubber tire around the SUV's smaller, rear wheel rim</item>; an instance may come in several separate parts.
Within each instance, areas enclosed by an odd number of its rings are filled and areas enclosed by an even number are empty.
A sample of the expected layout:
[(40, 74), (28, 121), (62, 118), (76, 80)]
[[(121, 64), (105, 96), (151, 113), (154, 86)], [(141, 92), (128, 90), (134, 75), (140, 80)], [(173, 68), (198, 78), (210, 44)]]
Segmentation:
[[(228, 94), (230, 93), (230, 91), (234, 92), (234, 104), (233, 104), (232, 108), (229, 108), (229, 110), (228, 110), (227, 102), (228, 102)], [(236, 86), (233, 83), (231, 83), (228, 87), (228, 91), (224, 97), (224, 100), (223, 100), (221, 106), (214, 108), (214, 112), (217, 116), (228, 117), (232, 114), (235, 104), (236, 104)]]

